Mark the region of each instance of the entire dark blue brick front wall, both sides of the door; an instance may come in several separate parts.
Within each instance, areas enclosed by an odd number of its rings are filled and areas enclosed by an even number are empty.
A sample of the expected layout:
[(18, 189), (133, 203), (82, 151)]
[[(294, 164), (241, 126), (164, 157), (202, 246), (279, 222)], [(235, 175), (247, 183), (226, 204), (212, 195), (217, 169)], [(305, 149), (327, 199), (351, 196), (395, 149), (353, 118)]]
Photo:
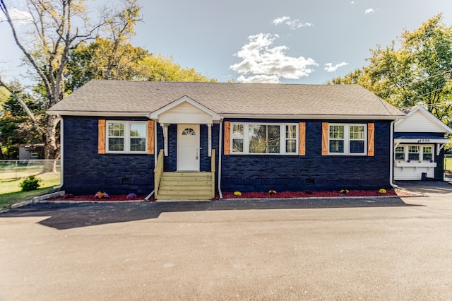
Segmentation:
[[(64, 117), (64, 189), (72, 194), (95, 194), (99, 190), (110, 194), (130, 192), (148, 194), (153, 190), (154, 155), (97, 154), (98, 119), (100, 118)], [(244, 119), (230, 121), (266, 122)], [(376, 189), (389, 186), (390, 121), (374, 122), (374, 157), (321, 155), (321, 122), (350, 123), (350, 121), (272, 120), (271, 122), (306, 122), (306, 155), (223, 155), (218, 147), (220, 125), (214, 124), (212, 148), (217, 150), (215, 160), (217, 175), (219, 155), (222, 158), (223, 191)], [(367, 122), (373, 121), (359, 121)], [(160, 124), (155, 126), (157, 126), (158, 153), (163, 149), (163, 132)], [(200, 131), (201, 171), (210, 171), (207, 126), (201, 125)], [(172, 124), (168, 129), (165, 170), (176, 169), (177, 125)], [(218, 182), (215, 187), (218, 187)]]

